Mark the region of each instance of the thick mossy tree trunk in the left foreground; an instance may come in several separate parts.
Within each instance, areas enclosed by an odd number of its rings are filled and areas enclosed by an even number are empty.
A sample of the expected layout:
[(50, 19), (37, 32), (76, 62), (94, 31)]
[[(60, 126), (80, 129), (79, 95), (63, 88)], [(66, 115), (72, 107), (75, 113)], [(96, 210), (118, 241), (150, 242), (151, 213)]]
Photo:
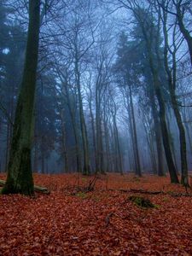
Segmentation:
[(39, 16), (40, 0), (30, 0), (26, 58), (15, 112), (8, 176), (3, 187), (3, 194), (20, 193), (32, 195), (34, 193), (31, 148), (33, 107), (38, 66)]

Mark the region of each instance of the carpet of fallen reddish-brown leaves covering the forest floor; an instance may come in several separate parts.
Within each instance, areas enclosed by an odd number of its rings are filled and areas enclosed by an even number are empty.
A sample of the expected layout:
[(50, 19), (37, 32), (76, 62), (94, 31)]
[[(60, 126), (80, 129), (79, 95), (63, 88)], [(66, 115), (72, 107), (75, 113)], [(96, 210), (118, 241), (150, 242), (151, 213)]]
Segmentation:
[(156, 205), (143, 209), (118, 190), (185, 192), (168, 177), (108, 174), (76, 195), (73, 186), (91, 177), (34, 178), (51, 193), (0, 195), (0, 255), (192, 255), (192, 197), (142, 195)]

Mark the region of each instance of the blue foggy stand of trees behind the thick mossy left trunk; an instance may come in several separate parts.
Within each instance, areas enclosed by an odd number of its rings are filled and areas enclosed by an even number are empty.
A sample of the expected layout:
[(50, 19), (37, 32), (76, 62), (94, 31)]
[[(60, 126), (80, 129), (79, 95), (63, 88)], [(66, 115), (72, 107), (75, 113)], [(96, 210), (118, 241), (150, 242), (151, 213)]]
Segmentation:
[[(0, 2), (1, 172), (24, 67), (26, 2)], [(33, 172), (191, 170), (191, 7), (172, 0), (41, 3)]]

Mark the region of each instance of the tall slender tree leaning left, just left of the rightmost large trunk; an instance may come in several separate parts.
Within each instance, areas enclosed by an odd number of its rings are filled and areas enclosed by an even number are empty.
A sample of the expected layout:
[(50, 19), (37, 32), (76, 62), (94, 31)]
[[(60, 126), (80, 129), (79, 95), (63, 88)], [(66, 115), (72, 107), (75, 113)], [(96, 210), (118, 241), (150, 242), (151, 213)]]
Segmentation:
[(151, 14), (151, 9), (134, 1), (130, 0), (119, 1), (125, 9), (131, 10), (137, 22), (137, 26), (140, 27), (142, 38), (145, 43), (146, 57), (148, 59), (148, 66), (150, 67), (150, 73), (153, 78), (154, 92), (158, 100), (160, 111), (160, 127), (163, 138), (163, 145), (166, 154), (166, 162), (170, 172), (171, 182), (178, 183), (177, 171), (172, 159), (172, 151), (170, 146), (170, 138), (166, 125), (166, 104), (162, 93), (162, 80), (160, 78), (160, 71), (162, 70), (162, 61), (160, 60), (160, 19), (154, 20)]

